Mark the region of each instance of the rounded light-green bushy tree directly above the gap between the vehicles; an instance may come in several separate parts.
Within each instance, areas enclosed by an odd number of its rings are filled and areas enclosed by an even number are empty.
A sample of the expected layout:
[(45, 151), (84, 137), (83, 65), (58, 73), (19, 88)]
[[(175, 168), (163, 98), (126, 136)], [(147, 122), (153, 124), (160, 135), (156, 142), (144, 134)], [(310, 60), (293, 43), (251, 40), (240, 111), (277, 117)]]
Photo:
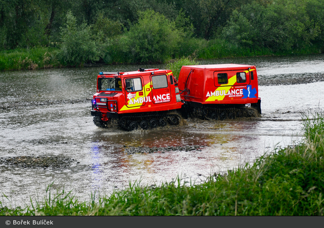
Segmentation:
[(153, 10), (140, 12), (138, 23), (121, 40), (130, 62), (164, 62), (172, 58), (183, 31)]

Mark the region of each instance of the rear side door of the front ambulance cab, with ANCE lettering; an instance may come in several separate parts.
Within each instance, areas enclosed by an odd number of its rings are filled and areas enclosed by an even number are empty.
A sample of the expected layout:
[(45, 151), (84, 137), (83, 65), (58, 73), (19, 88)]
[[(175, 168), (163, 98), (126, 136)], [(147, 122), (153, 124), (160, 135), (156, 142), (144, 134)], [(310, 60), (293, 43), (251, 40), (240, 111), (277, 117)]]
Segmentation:
[(152, 102), (154, 104), (171, 101), (170, 83), (166, 74), (151, 75)]

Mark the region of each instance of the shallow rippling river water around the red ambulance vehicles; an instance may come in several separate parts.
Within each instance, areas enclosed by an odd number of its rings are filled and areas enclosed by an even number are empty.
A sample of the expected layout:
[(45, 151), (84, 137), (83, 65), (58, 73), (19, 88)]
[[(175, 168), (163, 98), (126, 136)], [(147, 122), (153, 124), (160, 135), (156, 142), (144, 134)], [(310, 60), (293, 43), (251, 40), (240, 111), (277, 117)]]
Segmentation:
[[(52, 192), (64, 188), (80, 200), (95, 192), (109, 195), (130, 182), (159, 185), (179, 176), (200, 183), (298, 143), (300, 113), (324, 107), (323, 60), (318, 54), (201, 61), (256, 65), (262, 117), (188, 119), (179, 126), (132, 132), (93, 124), (96, 75), (165, 65), (0, 72), (0, 193), (7, 196), (0, 201), (28, 205), (30, 198), (42, 200), (51, 183)], [(152, 147), (157, 149), (149, 151)], [(47, 157), (56, 160), (50, 165)]]

